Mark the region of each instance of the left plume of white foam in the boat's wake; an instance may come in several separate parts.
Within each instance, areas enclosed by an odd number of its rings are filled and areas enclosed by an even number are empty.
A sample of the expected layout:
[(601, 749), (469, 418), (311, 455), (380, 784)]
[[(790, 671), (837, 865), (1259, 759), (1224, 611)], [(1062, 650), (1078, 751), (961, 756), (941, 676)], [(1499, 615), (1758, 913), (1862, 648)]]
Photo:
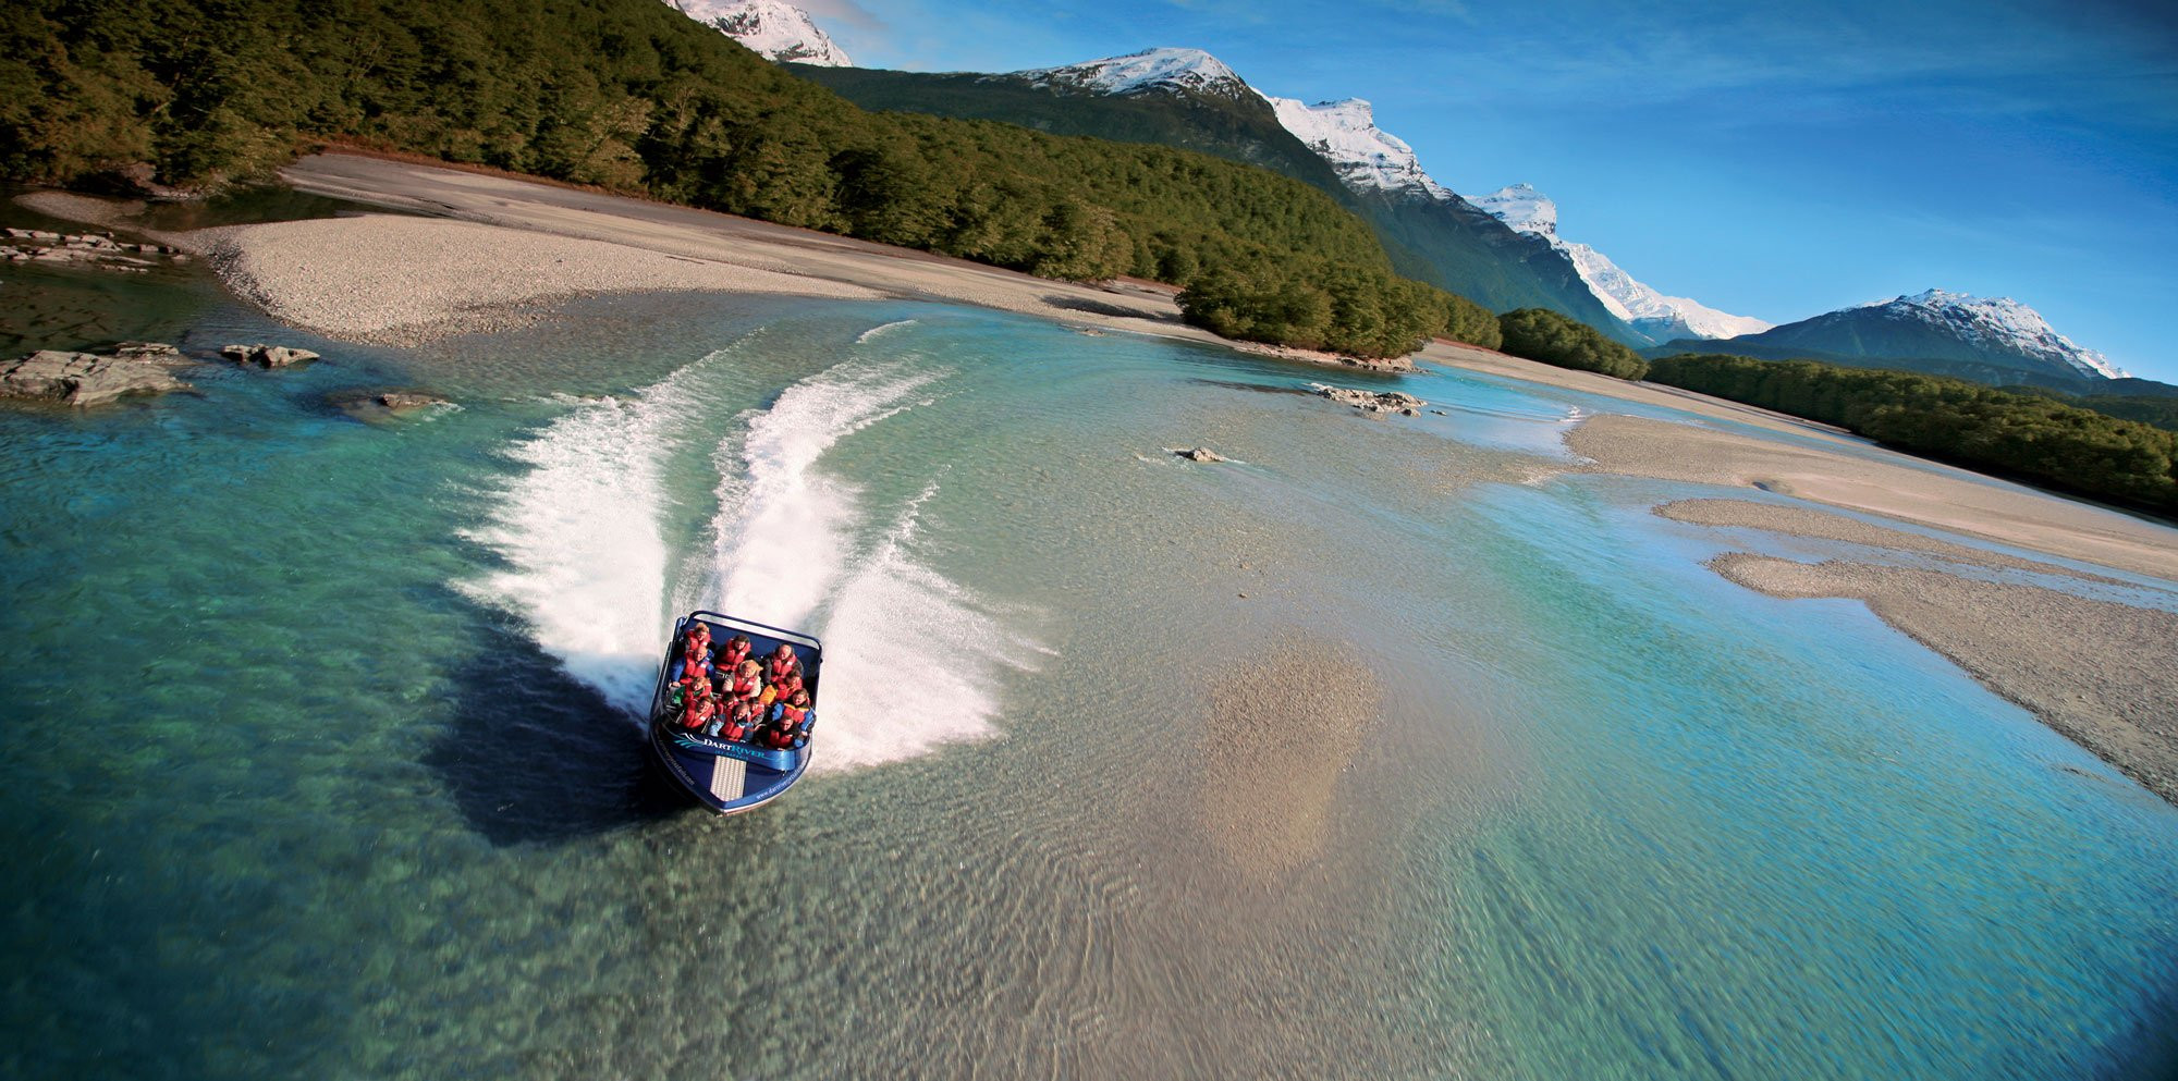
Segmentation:
[(649, 706), (669, 625), (660, 460), (712, 353), (629, 399), (586, 399), (514, 447), (525, 464), (466, 536), (505, 560), (464, 593), (525, 619), (538, 647), (614, 706)]

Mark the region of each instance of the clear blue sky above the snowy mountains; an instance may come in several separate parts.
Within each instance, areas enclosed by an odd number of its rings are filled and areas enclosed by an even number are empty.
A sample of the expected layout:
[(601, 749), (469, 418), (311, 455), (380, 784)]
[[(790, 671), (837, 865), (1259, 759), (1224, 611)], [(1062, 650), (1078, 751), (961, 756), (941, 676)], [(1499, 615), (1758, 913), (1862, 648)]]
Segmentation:
[[(1204, 48), (1268, 94), (1368, 98), (1459, 192), (1790, 323), (1941, 286), (2017, 296), (2178, 381), (2178, 17), (2110, 0), (806, 0), (865, 68)], [(2169, 4), (2165, 4), (2169, 7)]]

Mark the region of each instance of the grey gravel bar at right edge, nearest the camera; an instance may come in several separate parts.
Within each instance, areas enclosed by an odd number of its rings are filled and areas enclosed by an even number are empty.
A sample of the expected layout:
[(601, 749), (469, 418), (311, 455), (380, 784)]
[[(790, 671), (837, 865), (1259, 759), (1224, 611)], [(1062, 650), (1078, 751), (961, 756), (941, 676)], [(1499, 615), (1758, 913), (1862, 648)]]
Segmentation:
[(1912, 567), (1734, 551), (1716, 573), (1773, 597), (1856, 597), (1997, 695), (2178, 804), (2178, 612)]

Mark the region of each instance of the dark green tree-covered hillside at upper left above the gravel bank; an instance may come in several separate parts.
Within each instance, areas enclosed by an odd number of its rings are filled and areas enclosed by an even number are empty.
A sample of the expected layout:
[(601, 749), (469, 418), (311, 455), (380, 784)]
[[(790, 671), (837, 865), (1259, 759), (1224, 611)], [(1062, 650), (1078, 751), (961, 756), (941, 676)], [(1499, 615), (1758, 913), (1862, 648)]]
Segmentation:
[[(357, 139), (1045, 277), (1390, 279), (1274, 172), (1008, 124), (867, 113), (658, 0), (17, 0), (0, 177), (216, 185)], [(1361, 312), (1374, 305), (1346, 305)], [(1422, 333), (1442, 333), (1433, 305)], [(1333, 316), (1337, 318), (1337, 316)], [(1331, 327), (1326, 342), (1383, 342)], [(1344, 344), (1333, 344), (1344, 349)]]

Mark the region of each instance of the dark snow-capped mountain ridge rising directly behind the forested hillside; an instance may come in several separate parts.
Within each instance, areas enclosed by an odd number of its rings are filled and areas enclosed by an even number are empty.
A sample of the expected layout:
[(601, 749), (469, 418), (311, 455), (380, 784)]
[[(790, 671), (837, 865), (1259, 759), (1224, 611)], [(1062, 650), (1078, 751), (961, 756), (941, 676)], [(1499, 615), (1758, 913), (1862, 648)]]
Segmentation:
[(1651, 344), (1596, 301), (1562, 251), (1516, 233), (1429, 179), (1405, 142), (1374, 126), (1363, 100), (1268, 98), (1196, 48), (1002, 74), (799, 65), (793, 74), (865, 109), (1152, 142), (1263, 166), (1329, 192), (1361, 216), (1400, 275), (1498, 312), (1549, 307), (1614, 338)]

